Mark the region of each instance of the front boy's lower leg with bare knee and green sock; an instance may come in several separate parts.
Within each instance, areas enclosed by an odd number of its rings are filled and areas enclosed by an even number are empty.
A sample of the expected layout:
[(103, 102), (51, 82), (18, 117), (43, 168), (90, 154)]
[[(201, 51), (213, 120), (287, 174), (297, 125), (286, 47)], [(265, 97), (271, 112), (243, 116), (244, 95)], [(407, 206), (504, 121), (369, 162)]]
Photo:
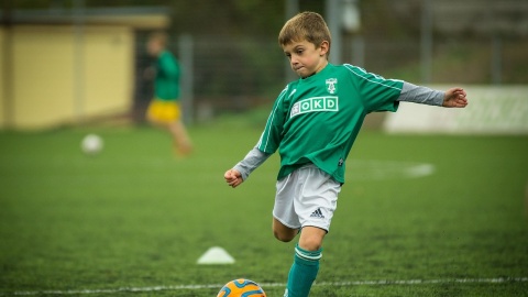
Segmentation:
[(319, 272), (319, 260), (322, 256), (322, 239), (326, 230), (317, 227), (305, 227), (299, 243), (295, 248), (294, 264), (288, 274), (285, 297), (307, 297)]

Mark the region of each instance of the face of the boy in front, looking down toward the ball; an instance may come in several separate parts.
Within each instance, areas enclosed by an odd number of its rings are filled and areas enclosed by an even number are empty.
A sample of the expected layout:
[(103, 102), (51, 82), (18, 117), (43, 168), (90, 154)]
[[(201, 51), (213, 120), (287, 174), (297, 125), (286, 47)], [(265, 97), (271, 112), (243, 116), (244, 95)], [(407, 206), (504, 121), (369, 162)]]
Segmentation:
[(284, 54), (288, 57), (292, 69), (302, 78), (317, 74), (327, 66), (328, 50), (329, 44), (326, 41), (319, 47), (308, 41), (283, 45)]

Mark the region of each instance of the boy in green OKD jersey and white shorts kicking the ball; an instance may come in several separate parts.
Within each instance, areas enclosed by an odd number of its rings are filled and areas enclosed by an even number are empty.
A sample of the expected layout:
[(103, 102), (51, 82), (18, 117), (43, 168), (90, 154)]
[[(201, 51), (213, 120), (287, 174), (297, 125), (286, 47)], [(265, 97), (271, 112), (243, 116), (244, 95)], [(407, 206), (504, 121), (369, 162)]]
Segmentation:
[(468, 101), (461, 88), (443, 92), (349, 64), (329, 64), (330, 32), (315, 12), (287, 21), (278, 43), (300, 78), (278, 95), (258, 143), (224, 178), (235, 188), (279, 151), (273, 233), (284, 242), (300, 233), (284, 296), (306, 297), (344, 183), (346, 156), (365, 116), (396, 111), (399, 101), (452, 108), (463, 108)]

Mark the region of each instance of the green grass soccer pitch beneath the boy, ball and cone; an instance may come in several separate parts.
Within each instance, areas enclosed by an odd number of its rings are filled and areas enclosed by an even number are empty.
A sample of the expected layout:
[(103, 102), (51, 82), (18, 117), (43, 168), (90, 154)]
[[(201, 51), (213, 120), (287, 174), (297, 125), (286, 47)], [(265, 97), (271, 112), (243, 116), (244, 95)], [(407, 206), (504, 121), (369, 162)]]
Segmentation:
[[(88, 132), (102, 154), (81, 154)], [(150, 128), (1, 132), (0, 296), (216, 296), (239, 277), (282, 296), (278, 157), (222, 178), (260, 132), (196, 127), (186, 160)], [(311, 296), (528, 296), (527, 183), (527, 136), (363, 131)], [(235, 264), (197, 265), (215, 245)]]

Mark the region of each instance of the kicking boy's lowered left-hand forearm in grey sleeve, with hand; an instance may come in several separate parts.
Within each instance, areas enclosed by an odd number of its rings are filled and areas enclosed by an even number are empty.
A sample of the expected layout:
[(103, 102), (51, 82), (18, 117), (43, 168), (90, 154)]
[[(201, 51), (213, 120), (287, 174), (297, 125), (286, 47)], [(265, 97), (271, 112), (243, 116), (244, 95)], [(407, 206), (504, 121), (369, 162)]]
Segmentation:
[(262, 163), (264, 163), (272, 154), (266, 154), (258, 150), (256, 146), (251, 150), (244, 160), (239, 162), (232, 169), (229, 169), (223, 175), (226, 183), (230, 187), (238, 187), (242, 184), (250, 174), (256, 169)]

